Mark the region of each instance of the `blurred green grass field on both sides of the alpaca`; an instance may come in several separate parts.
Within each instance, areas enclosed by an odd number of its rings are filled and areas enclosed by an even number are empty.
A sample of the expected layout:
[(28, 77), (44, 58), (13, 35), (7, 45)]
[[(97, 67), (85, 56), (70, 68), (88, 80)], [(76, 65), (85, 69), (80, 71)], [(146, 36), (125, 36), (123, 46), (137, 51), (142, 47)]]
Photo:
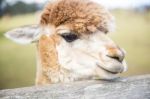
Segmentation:
[[(109, 36), (123, 47), (129, 69), (122, 76), (150, 73), (150, 12), (113, 11), (117, 29)], [(3, 37), (11, 28), (36, 23), (34, 14), (0, 19), (0, 89), (34, 84), (35, 46), (18, 45)]]

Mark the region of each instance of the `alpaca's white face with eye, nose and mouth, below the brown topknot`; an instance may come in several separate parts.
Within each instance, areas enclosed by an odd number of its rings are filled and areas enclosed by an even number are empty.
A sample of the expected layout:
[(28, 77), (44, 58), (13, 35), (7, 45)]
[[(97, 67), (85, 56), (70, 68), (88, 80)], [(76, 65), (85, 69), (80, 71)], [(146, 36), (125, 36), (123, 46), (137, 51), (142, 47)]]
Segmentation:
[(127, 70), (125, 52), (103, 32), (77, 35), (60, 26), (54, 34), (59, 38), (55, 42), (58, 64), (75, 79), (112, 79)]

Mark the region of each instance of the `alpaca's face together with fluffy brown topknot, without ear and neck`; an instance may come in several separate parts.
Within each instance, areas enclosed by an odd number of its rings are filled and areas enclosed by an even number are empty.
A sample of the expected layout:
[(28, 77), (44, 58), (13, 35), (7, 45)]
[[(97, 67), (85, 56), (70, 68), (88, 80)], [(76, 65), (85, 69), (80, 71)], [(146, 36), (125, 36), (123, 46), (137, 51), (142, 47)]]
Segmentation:
[[(113, 16), (88, 0), (60, 0), (48, 4), (41, 16), (47, 34), (60, 37), (58, 62), (83, 77), (111, 79), (126, 71), (124, 51), (107, 37), (114, 29)], [(48, 29), (46, 29), (48, 30)]]

